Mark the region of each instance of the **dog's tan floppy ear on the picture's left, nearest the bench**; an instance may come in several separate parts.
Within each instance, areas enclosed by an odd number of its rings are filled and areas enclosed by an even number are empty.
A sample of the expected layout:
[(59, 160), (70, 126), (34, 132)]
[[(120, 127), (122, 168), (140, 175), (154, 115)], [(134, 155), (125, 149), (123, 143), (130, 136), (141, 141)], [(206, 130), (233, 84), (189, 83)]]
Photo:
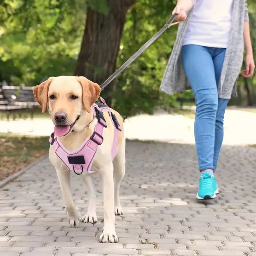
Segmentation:
[(49, 86), (50, 86), (51, 82), (52, 82), (52, 77), (49, 77), (46, 81), (44, 81), (41, 84), (36, 85), (33, 89), (35, 99), (42, 107), (42, 114), (45, 113), (45, 110), (47, 107), (48, 90), (49, 90)]

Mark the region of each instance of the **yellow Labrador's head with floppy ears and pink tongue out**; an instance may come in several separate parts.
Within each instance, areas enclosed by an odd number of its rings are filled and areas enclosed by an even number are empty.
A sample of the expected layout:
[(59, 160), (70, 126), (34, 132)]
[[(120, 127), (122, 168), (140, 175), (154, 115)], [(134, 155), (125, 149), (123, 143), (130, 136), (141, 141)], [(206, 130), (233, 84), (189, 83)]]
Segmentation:
[[(55, 125), (57, 136), (65, 136), (76, 128), (80, 130), (84, 119), (91, 111), (92, 104), (100, 96), (100, 86), (84, 76), (50, 77), (33, 89), (36, 101), (46, 108)], [(80, 121), (80, 122), (79, 122)]]

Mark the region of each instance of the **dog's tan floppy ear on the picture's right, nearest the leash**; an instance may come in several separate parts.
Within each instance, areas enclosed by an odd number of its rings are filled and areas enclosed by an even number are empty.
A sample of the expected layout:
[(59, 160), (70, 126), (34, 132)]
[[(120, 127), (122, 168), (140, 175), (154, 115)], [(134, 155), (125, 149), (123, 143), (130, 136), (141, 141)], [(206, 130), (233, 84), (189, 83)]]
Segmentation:
[(81, 84), (83, 90), (83, 105), (89, 113), (92, 104), (98, 100), (101, 92), (99, 84), (93, 83), (84, 76), (78, 76), (77, 81)]

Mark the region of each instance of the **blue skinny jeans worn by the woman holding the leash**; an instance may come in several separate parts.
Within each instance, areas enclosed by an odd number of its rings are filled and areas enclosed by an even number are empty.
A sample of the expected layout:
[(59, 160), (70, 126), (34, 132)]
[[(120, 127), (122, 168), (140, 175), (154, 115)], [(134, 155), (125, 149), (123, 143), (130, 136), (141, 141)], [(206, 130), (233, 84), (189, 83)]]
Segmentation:
[(182, 65), (196, 100), (194, 125), (199, 170), (216, 170), (228, 99), (218, 98), (225, 48), (182, 46)]

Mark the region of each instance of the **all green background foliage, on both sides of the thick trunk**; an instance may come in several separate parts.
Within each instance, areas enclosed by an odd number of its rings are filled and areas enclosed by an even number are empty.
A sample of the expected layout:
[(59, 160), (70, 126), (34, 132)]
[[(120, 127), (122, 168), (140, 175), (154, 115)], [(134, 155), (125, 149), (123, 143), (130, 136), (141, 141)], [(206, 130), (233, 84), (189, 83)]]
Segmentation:
[[(117, 68), (162, 28), (175, 3), (174, 0), (136, 0), (126, 17)], [(0, 81), (33, 86), (49, 76), (73, 75), (84, 34), (87, 6), (108, 13), (107, 0), (2, 0)], [(256, 53), (256, 33), (253, 32), (256, 28), (256, 2), (248, 0), (248, 8)], [(173, 96), (159, 91), (176, 31), (177, 26), (165, 31), (108, 85), (107, 88), (114, 88), (106, 89), (113, 99), (112, 107), (124, 117), (142, 112), (152, 114), (157, 107), (168, 109), (177, 105), (177, 97), (193, 98), (191, 91)], [(249, 82), (254, 93), (255, 78)], [(242, 78), (238, 85), (242, 95), (240, 104), (246, 96)]]

